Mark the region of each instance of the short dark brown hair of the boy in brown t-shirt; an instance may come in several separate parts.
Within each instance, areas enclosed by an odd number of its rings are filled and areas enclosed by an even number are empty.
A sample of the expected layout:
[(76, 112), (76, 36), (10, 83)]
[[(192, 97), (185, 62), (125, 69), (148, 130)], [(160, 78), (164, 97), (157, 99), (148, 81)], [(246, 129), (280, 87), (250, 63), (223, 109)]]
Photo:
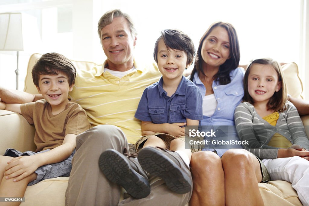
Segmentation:
[(32, 68), (31, 73), (34, 85), (39, 87), (40, 74), (57, 75), (59, 71), (68, 76), (69, 85), (72, 86), (76, 77), (76, 69), (72, 62), (62, 54), (43, 54)]

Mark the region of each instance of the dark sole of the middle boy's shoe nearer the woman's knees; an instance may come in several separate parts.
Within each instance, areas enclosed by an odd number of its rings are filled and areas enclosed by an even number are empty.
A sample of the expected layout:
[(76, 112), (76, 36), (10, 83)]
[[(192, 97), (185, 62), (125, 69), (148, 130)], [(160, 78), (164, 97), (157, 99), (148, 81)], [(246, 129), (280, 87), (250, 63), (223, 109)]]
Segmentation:
[(191, 191), (192, 179), (171, 159), (153, 147), (142, 149), (138, 153), (138, 162), (144, 170), (162, 178), (173, 192), (185, 194)]

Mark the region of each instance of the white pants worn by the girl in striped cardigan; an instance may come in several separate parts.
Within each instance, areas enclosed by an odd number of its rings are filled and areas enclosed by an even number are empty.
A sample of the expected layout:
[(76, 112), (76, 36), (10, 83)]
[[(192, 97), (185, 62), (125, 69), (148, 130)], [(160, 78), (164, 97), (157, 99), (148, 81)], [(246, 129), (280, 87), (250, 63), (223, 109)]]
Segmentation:
[(298, 156), (263, 159), (270, 180), (285, 180), (292, 184), (304, 206), (309, 206), (309, 161)]

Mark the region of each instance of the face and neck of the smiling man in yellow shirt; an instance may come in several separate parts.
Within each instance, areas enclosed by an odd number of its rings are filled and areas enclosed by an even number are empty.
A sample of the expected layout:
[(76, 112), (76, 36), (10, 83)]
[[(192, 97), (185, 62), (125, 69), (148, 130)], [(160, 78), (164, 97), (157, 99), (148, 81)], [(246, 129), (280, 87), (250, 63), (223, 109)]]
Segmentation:
[(127, 71), (133, 67), (133, 49), (136, 36), (132, 37), (127, 19), (116, 17), (101, 29), (101, 44), (108, 61), (108, 69)]

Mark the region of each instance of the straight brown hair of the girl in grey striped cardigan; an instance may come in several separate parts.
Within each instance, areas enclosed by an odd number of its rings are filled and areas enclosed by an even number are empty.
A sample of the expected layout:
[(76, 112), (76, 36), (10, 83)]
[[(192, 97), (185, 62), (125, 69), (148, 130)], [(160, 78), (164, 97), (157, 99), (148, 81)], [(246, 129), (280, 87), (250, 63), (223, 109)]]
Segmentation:
[(286, 110), (285, 103), (287, 100), (287, 89), (286, 89), (286, 82), (284, 80), (284, 75), (281, 69), (281, 65), (277, 61), (271, 58), (256, 59), (252, 61), (251, 64), (248, 66), (248, 69), (246, 70), (245, 76), (243, 78), (243, 89), (244, 89), (243, 101), (249, 102), (251, 104), (254, 103), (248, 91), (248, 78), (253, 64), (271, 65), (272, 68), (276, 70), (278, 74), (278, 81), (281, 82), (281, 89), (275, 92), (273, 96), (269, 99), (267, 103), (267, 108), (279, 112)]

